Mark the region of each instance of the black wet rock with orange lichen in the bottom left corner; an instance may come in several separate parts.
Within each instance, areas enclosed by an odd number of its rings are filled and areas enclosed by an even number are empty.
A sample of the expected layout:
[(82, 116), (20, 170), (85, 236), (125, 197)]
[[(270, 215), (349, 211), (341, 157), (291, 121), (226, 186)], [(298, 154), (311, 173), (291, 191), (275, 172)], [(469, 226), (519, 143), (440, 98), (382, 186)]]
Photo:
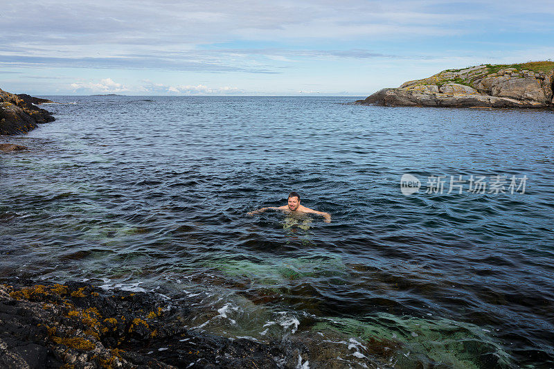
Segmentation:
[(68, 282), (0, 285), (1, 368), (280, 368), (283, 348), (187, 330), (187, 308)]

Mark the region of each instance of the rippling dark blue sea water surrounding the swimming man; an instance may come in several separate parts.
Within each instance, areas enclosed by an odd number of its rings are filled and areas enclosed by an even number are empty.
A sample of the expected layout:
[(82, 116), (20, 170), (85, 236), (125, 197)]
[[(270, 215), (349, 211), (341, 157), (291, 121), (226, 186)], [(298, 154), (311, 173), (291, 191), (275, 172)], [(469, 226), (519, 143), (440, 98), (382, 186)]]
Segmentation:
[[(552, 112), (51, 99), (73, 103), (0, 136), (31, 149), (0, 156), (0, 278), (154, 290), (188, 327), (317, 337), (338, 368), (554, 366)], [(506, 193), (447, 193), (496, 175)], [(247, 216), (291, 190), (332, 222)]]

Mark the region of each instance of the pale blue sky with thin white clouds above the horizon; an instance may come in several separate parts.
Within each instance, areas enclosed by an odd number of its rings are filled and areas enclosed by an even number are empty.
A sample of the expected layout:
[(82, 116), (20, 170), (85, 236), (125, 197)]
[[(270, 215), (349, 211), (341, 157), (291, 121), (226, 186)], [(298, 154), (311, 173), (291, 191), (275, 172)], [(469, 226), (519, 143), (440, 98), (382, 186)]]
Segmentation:
[(368, 96), (554, 59), (554, 1), (41, 0), (0, 7), (0, 89), (35, 96)]

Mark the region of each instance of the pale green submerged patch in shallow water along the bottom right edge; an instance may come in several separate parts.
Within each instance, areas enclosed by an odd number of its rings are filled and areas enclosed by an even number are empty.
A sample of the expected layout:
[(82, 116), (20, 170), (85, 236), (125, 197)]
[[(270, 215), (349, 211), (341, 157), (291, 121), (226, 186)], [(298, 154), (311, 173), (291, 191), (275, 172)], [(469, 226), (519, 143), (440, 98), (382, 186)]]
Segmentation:
[(312, 330), (340, 332), (368, 342), (395, 343), (395, 368), (515, 368), (490, 331), (447, 318), (377, 313), (363, 320), (328, 318)]

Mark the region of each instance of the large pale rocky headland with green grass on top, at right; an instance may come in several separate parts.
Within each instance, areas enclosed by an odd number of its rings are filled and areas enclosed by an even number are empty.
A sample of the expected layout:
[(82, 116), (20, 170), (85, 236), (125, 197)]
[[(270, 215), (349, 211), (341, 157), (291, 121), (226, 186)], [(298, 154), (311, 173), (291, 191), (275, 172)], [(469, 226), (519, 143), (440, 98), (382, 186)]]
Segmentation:
[(479, 65), (382, 89), (358, 105), (424, 107), (554, 107), (554, 62)]

